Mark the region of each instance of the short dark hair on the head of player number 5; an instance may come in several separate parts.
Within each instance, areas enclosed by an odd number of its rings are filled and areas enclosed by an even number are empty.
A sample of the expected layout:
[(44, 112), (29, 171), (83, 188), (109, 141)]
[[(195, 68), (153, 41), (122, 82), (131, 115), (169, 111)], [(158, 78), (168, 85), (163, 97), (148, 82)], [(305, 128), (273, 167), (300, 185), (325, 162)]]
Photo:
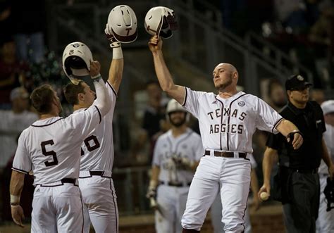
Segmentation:
[(42, 84), (35, 88), (30, 95), (32, 106), (39, 114), (49, 113), (54, 100), (54, 89), (50, 84)]

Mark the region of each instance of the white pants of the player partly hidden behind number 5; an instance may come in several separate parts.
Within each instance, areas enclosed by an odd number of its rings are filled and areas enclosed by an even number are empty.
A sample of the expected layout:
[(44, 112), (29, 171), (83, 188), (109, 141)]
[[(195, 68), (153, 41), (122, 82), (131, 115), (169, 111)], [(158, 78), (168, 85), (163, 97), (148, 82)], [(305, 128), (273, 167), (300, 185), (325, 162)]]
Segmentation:
[(118, 233), (118, 207), (115, 188), (111, 178), (92, 176), (79, 179), (84, 203), (84, 232), (90, 223), (95, 232)]

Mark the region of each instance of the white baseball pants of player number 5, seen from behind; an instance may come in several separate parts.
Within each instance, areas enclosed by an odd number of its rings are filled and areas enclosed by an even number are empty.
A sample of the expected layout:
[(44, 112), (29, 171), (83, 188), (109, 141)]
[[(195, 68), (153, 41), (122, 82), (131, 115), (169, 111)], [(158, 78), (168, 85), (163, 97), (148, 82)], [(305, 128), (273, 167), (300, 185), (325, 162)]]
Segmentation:
[(82, 201), (78, 186), (37, 185), (32, 200), (31, 232), (82, 232), (82, 227)]

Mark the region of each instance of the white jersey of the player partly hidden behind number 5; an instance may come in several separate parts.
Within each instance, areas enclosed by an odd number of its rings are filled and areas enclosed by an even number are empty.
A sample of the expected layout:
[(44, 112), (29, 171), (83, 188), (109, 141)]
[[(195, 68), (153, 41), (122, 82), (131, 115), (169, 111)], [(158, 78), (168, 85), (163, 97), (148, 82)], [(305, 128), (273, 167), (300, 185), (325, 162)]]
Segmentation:
[[(106, 82), (106, 88), (111, 99), (111, 110), (106, 113), (101, 123), (83, 141), (80, 171), (111, 171), (113, 168), (113, 111), (117, 94), (109, 82)], [(81, 108), (75, 111), (74, 114), (82, 111), (85, 111), (85, 109)]]

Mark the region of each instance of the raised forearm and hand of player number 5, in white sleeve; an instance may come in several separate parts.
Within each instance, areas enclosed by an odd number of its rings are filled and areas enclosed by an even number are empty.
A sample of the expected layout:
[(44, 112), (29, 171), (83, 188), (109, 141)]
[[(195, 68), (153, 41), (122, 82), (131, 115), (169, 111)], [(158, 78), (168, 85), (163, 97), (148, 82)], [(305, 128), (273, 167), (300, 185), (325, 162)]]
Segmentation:
[(108, 90), (106, 89), (106, 85), (100, 75), (100, 68), (101, 66), (98, 61), (91, 61), (89, 74), (94, 81), (94, 87), (97, 93), (97, 100), (95, 102), (96, 106), (101, 112), (101, 117), (104, 117), (104, 115), (106, 115), (111, 108), (111, 100), (108, 98)]

